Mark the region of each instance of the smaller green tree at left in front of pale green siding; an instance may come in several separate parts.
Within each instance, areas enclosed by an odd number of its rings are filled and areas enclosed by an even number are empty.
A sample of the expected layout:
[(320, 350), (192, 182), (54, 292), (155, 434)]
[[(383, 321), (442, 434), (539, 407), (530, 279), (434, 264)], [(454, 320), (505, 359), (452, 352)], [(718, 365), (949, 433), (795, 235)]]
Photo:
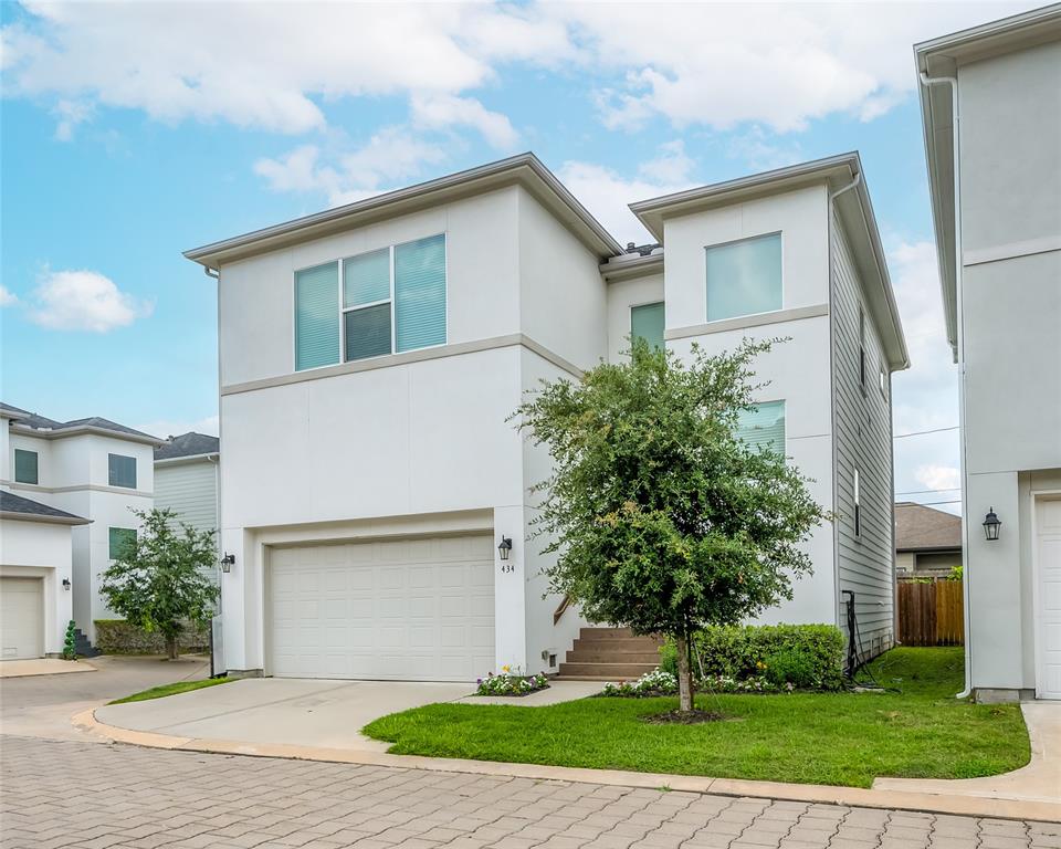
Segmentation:
[(171, 510), (134, 513), (140, 530), (103, 573), (99, 591), (126, 621), (161, 633), (176, 660), (183, 623), (202, 627), (213, 614), (218, 588), (204, 574), (217, 559), (213, 534), (177, 523)]

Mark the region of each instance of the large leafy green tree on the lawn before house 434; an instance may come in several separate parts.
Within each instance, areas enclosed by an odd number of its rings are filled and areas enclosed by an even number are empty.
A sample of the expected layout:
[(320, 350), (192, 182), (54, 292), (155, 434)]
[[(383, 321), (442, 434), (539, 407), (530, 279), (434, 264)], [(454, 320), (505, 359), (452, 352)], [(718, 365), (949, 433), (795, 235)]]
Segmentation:
[(758, 388), (749, 366), (771, 344), (717, 356), (694, 346), (685, 366), (637, 340), (629, 363), (547, 382), (517, 411), (554, 459), (536, 486), (536, 533), (558, 553), (550, 590), (590, 621), (673, 637), (682, 711), (693, 706), (691, 635), (791, 598), (792, 576), (810, 572), (798, 544), (823, 518), (808, 479), (734, 434)]

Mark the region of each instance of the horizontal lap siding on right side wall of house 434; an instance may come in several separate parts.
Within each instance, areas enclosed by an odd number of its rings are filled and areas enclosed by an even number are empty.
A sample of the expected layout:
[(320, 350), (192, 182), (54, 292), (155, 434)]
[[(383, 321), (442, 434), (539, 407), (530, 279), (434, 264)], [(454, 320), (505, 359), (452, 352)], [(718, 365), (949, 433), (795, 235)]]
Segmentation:
[[(894, 642), (891, 379), (873, 319), (865, 315), (865, 392), (859, 381), (862, 285), (843, 226), (832, 213), (833, 407), (837, 452), (838, 594), (855, 594), (862, 648), (875, 656)], [(884, 392), (880, 369), (884, 365)], [(854, 533), (854, 471), (859, 470), (861, 535)], [(844, 597), (838, 598), (845, 625)]]

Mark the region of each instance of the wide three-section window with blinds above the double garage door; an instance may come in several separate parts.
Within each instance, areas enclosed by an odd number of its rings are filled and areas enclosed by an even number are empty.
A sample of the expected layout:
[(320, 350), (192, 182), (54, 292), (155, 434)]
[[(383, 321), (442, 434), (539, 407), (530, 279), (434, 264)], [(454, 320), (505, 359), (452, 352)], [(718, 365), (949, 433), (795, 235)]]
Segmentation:
[(444, 345), (445, 235), (295, 273), (295, 369)]

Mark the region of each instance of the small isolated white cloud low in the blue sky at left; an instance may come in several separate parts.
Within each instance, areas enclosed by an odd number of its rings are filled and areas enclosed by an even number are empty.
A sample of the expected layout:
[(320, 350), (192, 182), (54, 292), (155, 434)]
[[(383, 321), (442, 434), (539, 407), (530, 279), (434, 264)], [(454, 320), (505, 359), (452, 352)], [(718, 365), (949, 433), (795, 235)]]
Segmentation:
[(33, 291), (29, 318), (53, 331), (107, 333), (150, 315), (154, 304), (122, 292), (95, 271), (45, 271)]

